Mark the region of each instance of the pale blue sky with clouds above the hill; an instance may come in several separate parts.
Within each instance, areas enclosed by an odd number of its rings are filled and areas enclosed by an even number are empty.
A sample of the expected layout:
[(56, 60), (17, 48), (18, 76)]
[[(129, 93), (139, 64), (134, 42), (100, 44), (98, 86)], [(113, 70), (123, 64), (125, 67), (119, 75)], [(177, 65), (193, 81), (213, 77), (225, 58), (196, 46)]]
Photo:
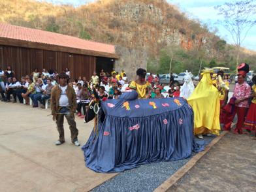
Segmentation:
[[(69, 3), (74, 6), (79, 6), (84, 3), (93, 2), (93, 0), (46, 0), (52, 3)], [(180, 10), (185, 12), (190, 18), (199, 19), (202, 23), (210, 25), (210, 28), (214, 29), (217, 27), (218, 33), (221, 38), (227, 40), (227, 42), (233, 44), (232, 37), (228, 31), (225, 30), (221, 25), (217, 25), (218, 19), (221, 19), (217, 15), (217, 11), (214, 9), (216, 5), (223, 5), (225, 0), (167, 0), (169, 3), (177, 5)], [(226, 0), (230, 1), (230, 0)], [(244, 40), (242, 46), (256, 50), (256, 26), (251, 29), (248, 36)]]

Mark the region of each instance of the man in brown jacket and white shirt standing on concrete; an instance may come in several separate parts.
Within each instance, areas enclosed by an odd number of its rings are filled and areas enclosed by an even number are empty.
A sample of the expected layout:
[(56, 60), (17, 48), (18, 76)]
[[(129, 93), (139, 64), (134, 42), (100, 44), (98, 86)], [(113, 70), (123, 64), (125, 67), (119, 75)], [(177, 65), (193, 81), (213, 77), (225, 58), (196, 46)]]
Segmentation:
[(63, 121), (64, 116), (69, 123), (71, 130), (71, 140), (75, 146), (80, 146), (78, 142), (78, 129), (76, 121), (74, 121), (74, 112), (76, 112), (76, 93), (74, 89), (68, 85), (69, 76), (64, 72), (57, 76), (59, 84), (54, 86), (51, 95), (51, 109), (53, 120), (56, 120), (57, 131), (59, 132), (59, 140), (56, 145), (61, 145), (65, 142)]

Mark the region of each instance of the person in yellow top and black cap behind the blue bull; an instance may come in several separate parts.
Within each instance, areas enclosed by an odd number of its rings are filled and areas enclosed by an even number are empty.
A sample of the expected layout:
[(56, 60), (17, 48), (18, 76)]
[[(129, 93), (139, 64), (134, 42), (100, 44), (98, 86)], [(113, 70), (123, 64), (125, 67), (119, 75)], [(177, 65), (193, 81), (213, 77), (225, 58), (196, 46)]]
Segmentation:
[(149, 91), (151, 89), (151, 85), (146, 81), (147, 71), (145, 69), (139, 68), (136, 71), (138, 76), (137, 80), (132, 81), (129, 85), (129, 88), (135, 89), (138, 93), (138, 99), (146, 99), (149, 98)]

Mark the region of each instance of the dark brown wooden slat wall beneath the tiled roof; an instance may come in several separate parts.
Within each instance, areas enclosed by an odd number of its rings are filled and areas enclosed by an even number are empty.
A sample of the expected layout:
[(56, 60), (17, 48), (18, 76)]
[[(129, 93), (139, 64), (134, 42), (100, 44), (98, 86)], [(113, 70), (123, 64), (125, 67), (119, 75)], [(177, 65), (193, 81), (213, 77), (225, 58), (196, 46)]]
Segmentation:
[(35, 68), (40, 72), (42, 69), (62, 72), (66, 67), (71, 71), (72, 79), (78, 76), (86, 76), (89, 79), (96, 69), (96, 57), (0, 45), (0, 67), (7, 69), (8, 65), (16, 72), (18, 79), (31, 74)]

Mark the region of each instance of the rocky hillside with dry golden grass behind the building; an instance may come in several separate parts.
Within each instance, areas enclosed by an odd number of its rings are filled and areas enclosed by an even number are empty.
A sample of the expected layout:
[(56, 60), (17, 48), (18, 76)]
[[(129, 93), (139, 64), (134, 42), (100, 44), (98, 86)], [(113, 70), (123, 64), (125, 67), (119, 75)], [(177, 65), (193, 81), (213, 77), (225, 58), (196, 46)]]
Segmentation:
[[(1, 22), (142, 49), (158, 67), (161, 50), (173, 52), (168, 50), (174, 47), (197, 58), (195, 63), (202, 61), (201, 57), (204, 63), (213, 59), (221, 65), (232, 63), (232, 58), (225, 58), (232, 48), (227, 50), (224, 40), (165, 0), (101, 0), (77, 8), (35, 0), (5, 0), (0, 1), (0, 11)], [(182, 64), (188, 68), (191, 65)]]

